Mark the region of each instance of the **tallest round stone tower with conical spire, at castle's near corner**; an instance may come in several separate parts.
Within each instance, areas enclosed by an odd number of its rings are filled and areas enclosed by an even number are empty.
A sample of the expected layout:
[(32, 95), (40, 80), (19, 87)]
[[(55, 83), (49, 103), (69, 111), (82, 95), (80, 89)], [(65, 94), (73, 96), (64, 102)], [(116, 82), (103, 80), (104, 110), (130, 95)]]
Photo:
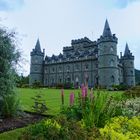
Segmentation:
[(117, 41), (106, 20), (103, 35), (98, 39), (99, 86), (111, 87), (119, 84)]

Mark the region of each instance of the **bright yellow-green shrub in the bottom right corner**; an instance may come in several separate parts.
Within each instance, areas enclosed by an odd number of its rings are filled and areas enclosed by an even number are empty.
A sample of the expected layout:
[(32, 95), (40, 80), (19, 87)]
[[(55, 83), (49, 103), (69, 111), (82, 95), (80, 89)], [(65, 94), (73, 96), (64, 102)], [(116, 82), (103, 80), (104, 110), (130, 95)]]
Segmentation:
[(139, 140), (140, 116), (128, 119), (115, 117), (100, 129), (101, 138), (104, 140)]

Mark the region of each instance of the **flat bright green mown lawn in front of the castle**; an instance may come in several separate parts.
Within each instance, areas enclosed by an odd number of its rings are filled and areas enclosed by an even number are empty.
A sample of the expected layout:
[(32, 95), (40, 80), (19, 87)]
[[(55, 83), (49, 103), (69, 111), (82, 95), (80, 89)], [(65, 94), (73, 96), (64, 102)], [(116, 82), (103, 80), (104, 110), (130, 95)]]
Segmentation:
[[(78, 93), (79, 90), (64, 90), (64, 103), (65, 105), (69, 104), (69, 94), (74, 92)], [(17, 93), (21, 102), (21, 107), (23, 110), (32, 110), (33, 106), (33, 97), (37, 94), (41, 94), (43, 99), (46, 101), (46, 105), (49, 108), (49, 114), (57, 114), (60, 111), (61, 107), (61, 89), (29, 89), (29, 88), (20, 88), (17, 89)]]

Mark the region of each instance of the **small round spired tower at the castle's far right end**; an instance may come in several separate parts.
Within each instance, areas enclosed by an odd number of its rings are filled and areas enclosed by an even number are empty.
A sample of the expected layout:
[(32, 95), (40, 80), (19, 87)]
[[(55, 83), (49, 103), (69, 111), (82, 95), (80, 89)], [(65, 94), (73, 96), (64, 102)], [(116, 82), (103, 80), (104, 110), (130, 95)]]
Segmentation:
[(134, 56), (130, 52), (127, 43), (124, 56), (122, 57), (122, 64), (124, 69), (124, 84), (127, 86), (135, 86)]

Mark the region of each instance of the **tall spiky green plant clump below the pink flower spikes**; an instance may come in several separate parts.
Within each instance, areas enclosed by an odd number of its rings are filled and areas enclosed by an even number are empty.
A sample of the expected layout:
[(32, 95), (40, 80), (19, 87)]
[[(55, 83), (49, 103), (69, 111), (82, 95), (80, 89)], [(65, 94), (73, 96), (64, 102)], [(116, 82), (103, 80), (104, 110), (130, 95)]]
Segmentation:
[(117, 106), (118, 102), (105, 92), (98, 91), (97, 94), (87, 94), (85, 97), (79, 94), (74, 105), (62, 107), (61, 113), (68, 119), (82, 120), (86, 128), (103, 127), (111, 117), (122, 113)]

